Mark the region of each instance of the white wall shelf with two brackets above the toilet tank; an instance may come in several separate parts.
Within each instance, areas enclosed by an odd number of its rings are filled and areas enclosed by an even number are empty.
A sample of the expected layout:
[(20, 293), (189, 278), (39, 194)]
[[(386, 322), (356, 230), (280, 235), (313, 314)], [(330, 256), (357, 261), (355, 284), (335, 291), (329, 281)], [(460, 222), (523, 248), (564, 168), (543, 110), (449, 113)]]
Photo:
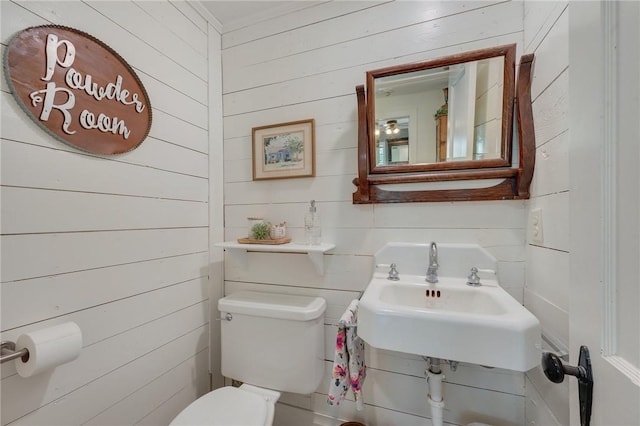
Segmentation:
[(242, 244), (233, 241), (225, 241), (223, 243), (216, 243), (218, 247), (222, 247), (231, 256), (233, 256), (244, 269), (247, 269), (247, 252), (248, 251), (260, 251), (269, 253), (306, 253), (309, 260), (315, 266), (318, 275), (324, 275), (324, 253), (333, 250), (336, 245), (330, 243), (322, 243), (317, 246), (310, 246), (306, 244)]

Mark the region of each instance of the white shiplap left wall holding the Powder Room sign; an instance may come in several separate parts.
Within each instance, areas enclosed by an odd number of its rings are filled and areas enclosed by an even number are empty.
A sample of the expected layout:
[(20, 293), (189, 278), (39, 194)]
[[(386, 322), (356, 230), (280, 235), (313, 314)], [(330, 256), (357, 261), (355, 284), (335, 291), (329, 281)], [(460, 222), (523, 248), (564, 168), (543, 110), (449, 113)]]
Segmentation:
[(209, 388), (220, 35), (184, 2), (3, 1), (1, 12), (3, 53), (28, 26), (80, 29), (129, 62), (153, 107), (138, 149), (95, 156), (38, 128), (2, 76), (2, 338), (66, 321), (83, 331), (80, 357), (52, 372), (23, 379), (2, 365), (2, 424), (167, 424)]

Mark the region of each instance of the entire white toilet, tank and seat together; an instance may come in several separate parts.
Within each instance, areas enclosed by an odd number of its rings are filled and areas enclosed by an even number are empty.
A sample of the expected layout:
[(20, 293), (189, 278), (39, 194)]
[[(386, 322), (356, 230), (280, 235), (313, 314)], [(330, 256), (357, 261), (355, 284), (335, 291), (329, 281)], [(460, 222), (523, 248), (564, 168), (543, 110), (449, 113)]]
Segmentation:
[(209, 392), (173, 426), (270, 426), (279, 391), (310, 394), (324, 373), (321, 297), (242, 291), (218, 302), (222, 374), (244, 382)]

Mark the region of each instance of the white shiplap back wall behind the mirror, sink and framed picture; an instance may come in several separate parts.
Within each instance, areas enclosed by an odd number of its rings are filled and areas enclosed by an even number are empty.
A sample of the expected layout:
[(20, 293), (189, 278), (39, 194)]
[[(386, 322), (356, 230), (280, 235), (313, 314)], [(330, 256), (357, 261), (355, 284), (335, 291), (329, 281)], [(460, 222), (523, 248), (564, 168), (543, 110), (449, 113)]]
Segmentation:
[[(526, 201), (353, 205), (357, 174), (355, 86), (365, 71), (494, 45), (523, 53), (522, 2), (326, 2), (223, 31), (225, 238), (247, 233), (248, 216), (286, 220), (300, 241), (309, 200), (318, 201), (323, 239), (336, 248), (324, 275), (303, 254), (249, 253), (243, 269), (225, 257), (225, 292), (319, 295), (326, 314), (327, 379), (309, 396), (284, 395), (276, 424), (430, 424), (420, 357), (368, 349), (365, 410), (326, 404), (335, 324), (362, 291), (373, 254), (388, 241), (475, 242), (499, 260), (501, 282), (523, 300)], [(314, 118), (314, 178), (253, 182), (251, 128)], [(446, 370), (449, 424), (524, 424), (522, 373), (461, 365)]]

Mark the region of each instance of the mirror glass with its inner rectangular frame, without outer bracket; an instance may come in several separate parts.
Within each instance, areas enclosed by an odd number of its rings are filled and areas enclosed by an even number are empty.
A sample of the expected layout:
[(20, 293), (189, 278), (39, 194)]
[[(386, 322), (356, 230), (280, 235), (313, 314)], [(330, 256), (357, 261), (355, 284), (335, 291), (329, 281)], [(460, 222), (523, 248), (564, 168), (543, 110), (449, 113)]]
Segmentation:
[(367, 73), (371, 172), (508, 165), (514, 50)]

